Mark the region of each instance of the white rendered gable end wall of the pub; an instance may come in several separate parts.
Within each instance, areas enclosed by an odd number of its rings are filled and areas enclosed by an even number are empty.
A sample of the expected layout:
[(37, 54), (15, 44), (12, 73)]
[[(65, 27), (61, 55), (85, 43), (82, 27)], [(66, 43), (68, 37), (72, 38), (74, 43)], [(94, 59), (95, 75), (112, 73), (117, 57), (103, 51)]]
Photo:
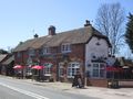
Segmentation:
[[(99, 43), (99, 45), (96, 44)], [(92, 56), (95, 57), (108, 57), (109, 55), (109, 44), (104, 38), (98, 38), (93, 36), (90, 42), (85, 45), (85, 72), (90, 72), (92, 75)]]

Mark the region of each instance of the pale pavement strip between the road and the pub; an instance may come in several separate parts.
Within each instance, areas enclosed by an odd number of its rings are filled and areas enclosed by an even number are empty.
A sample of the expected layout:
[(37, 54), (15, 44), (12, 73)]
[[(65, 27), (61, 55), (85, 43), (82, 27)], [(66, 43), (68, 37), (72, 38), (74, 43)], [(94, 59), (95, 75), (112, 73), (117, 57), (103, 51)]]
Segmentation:
[(90, 87), (74, 88), (72, 84), (69, 82), (40, 82), (31, 79), (18, 79), (33, 85), (52, 88), (54, 90), (61, 90), (69, 94), (84, 95), (89, 97), (100, 98), (100, 99), (133, 99), (133, 88), (103, 88), (103, 87)]

